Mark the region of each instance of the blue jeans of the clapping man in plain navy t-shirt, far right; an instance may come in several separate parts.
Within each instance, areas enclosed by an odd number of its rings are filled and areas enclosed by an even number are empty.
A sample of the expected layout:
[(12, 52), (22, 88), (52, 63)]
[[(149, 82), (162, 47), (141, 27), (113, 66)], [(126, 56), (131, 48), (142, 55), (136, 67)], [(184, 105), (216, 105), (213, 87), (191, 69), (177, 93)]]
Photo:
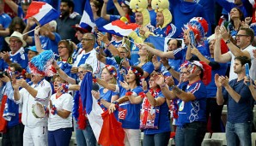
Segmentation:
[(232, 124), (228, 121), (226, 125), (227, 145), (236, 146), (239, 145), (239, 141), (241, 146), (252, 145), (252, 126), (252, 122)]

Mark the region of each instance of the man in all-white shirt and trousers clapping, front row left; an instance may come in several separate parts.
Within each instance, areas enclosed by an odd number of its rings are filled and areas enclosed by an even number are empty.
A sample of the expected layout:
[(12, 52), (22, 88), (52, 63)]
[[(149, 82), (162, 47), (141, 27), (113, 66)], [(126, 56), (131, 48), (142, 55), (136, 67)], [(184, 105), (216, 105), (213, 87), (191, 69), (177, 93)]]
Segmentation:
[[(26, 80), (14, 80), (14, 99), (22, 104), (21, 121), (25, 126), (23, 133), (23, 145), (46, 146), (47, 145), (47, 118), (35, 118), (33, 105), (39, 102), (47, 106), (52, 95), (52, 87), (42, 75), (32, 75), (31, 82)], [(22, 87), (21, 91), (19, 88)]]

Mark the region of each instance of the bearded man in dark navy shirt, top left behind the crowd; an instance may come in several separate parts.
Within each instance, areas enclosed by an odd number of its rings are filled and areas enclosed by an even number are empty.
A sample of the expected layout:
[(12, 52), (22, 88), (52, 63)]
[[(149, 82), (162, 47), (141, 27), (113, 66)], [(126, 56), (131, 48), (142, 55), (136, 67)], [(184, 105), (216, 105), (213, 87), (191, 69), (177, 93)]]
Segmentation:
[(62, 39), (71, 39), (76, 44), (79, 43), (75, 37), (76, 30), (71, 26), (76, 26), (81, 20), (81, 15), (74, 12), (74, 3), (70, 0), (62, 0), (60, 3), (60, 16), (57, 20), (57, 32)]

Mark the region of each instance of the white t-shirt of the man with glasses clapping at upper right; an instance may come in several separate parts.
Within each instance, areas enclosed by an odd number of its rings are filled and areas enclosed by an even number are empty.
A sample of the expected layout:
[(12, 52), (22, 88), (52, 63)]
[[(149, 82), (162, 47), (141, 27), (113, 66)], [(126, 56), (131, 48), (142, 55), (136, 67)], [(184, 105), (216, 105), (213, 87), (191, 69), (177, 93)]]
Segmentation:
[[(242, 51), (247, 51), (250, 56), (251, 56), (251, 68), (250, 68), (250, 77), (251, 79), (255, 80), (256, 79), (256, 60), (253, 56), (253, 50), (256, 50), (255, 47), (253, 47), (253, 45), (249, 45), (246, 49), (242, 50)], [(231, 51), (229, 51), (229, 55), (231, 55), (231, 65), (230, 65), (230, 72), (229, 72), (229, 80), (232, 79), (237, 79), (237, 74), (234, 73), (234, 63), (235, 63), (235, 55), (233, 55), (231, 53)]]

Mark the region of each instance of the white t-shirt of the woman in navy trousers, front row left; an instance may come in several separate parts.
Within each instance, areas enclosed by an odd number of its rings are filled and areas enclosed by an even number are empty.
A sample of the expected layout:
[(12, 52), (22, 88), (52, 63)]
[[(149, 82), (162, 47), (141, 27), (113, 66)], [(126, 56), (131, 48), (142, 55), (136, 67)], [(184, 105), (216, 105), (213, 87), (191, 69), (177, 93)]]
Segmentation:
[[(67, 110), (72, 112), (73, 108), (73, 97), (70, 96), (68, 93), (64, 93), (63, 95), (59, 96), (56, 99), (56, 93), (51, 96), (52, 105), (55, 105), (57, 110)], [(58, 114), (51, 114), (49, 113), (48, 119), (48, 130), (49, 131), (56, 131), (61, 128), (69, 128), (72, 127), (72, 114), (67, 119), (63, 119)]]

